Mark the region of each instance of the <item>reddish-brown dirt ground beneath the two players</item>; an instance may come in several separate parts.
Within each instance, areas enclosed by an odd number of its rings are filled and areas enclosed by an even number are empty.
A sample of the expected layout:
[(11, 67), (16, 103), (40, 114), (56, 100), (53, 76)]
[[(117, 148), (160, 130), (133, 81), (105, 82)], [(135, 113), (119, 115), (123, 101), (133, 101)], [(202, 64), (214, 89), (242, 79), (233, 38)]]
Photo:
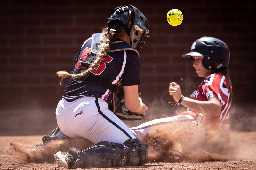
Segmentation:
[[(238, 137), (239, 136), (239, 137)], [(41, 157), (47, 157), (48, 160), (44, 163), (43, 159), (39, 159), (38, 155), (33, 155), (36, 152), (32, 152), (31, 148), (35, 148), (35, 144), (41, 143), (42, 136), (0, 136), (0, 169), (9, 170), (9, 169), (33, 169), (33, 170), (41, 170), (41, 169), (65, 169), (65, 168), (57, 168), (56, 164), (53, 163), (53, 154), (54, 149), (48, 149), (48, 153), (50, 155), (40, 155)], [(227, 154), (221, 154), (223, 160), (226, 161), (217, 161), (218, 158), (214, 154), (208, 153), (208, 157), (210, 156), (212, 161), (207, 159), (201, 159), (195, 162), (193, 160), (181, 160), (181, 159), (173, 159), (172, 162), (154, 162), (152, 156), (147, 164), (143, 166), (132, 166), (132, 167), (123, 167), (118, 169), (256, 169), (256, 132), (232, 132), (231, 133), (231, 141), (234, 141), (231, 144), (234, 148), (233, 153), (228, 152)], [(60, 147), (64, 149), (65, 146), (62, 143), (63, 141), (55, 142), (55, 149), (58, 150)], [(74, 143), (72, 143), (74, 144)], [(87, 143), (90, 145), (90, 143)], [(56, 147), (57, 146), (57, 147)], [(237, 146), (237, 147), (235, 147)], [(54, 146), (50, 146), (54, 148)], [(83, 147), (86, 147), (84, 144)], [(150, 147), (150, 146), (149, 146)], [(152, 147), (152, 146), (151, 146)], [(157, 154), (158, 150), (155, 148), (155, 152)], [(164, 148), (166, 149), (166, 148)], [(160, 148), (159, 148), (160, 150)], [(150, 150), (152, 155), (152, 148)], [(163, 151), (161, 151), (163, 152)], [(167, 151), (165, 151), (165, 155), (168, 156)], [(199, 154), (201, 153), (201, 154)], [(207, 157), (207, 154), (203, 151), (199, 151), (199, 157)], [(233, 154), (233, 155), (232, 155)], [(33, 159), (33, 158), (38, 158)], [(215, 159), (215, 160), (214, 160)], [(207, 160), (205, 162), (205, 160)], [(41, 163), (31, 163), (31, 162), (40, 162)], [(30, 163), (29, 163), (30, 162)], [(86, 168), (86, 169), (114, 169), (114, 168)]]

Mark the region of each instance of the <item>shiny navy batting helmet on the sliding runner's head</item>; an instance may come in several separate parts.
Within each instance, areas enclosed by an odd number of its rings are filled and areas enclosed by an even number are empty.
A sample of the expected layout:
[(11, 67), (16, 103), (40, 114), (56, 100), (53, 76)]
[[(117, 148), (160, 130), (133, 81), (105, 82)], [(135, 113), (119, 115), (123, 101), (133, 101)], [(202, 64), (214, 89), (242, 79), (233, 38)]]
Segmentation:
[(201, 37), (193, 42), (191, 52), (182, 55), (184, 58), (204, 56), (202, 64), (209, 70), (218, 70), (227, 67), (229, 62), (229, 49), (225, 42), (214, 37)]

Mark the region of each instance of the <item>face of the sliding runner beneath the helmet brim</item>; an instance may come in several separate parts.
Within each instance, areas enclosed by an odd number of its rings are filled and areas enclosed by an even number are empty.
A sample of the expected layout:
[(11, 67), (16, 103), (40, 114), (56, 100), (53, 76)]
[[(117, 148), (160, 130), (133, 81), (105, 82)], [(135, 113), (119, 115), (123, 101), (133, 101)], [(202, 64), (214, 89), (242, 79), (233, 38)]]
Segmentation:
[(203, 56), (193, 56), (193, 59), (193, 67), (196, 70), (198, 77), (207, 77), (212, 72), (212, 70), (204, 68), (202, 64), (202, 60), (204, 59)]

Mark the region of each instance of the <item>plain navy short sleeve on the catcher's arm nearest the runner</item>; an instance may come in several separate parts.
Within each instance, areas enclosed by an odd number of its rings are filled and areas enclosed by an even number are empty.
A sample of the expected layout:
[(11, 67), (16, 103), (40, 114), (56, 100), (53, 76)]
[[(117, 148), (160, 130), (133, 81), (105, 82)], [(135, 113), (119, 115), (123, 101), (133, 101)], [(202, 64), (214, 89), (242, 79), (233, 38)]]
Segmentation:
[(123, 85), (131, 86), (131, 85), (139, 85), (140, 82), (140, 58), (137, 54), (133, 53), (128, 56), (128, 63), (126, 64), (126, 68), (124, 70), (123, 77)]

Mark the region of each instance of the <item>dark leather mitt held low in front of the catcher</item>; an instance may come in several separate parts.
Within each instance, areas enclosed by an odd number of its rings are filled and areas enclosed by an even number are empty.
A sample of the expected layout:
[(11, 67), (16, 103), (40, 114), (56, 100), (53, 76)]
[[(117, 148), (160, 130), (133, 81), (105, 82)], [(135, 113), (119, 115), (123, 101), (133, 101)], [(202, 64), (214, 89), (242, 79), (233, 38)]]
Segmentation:
[(131, 112), (130, 110), (126, 109), (126, 108), (122, 108), (118, 109), (115, 113), (114, 113), (119, 119), (121, 120), (125, 120), (125, 121), (132, 121), (132, 120), (141, 120), (141, 119), (145, 119), (145, 114), (141, 114), (138, 115), (134, 112)]

